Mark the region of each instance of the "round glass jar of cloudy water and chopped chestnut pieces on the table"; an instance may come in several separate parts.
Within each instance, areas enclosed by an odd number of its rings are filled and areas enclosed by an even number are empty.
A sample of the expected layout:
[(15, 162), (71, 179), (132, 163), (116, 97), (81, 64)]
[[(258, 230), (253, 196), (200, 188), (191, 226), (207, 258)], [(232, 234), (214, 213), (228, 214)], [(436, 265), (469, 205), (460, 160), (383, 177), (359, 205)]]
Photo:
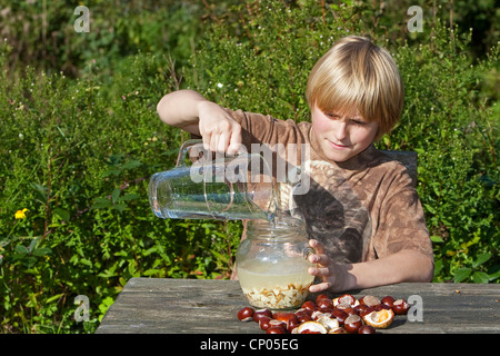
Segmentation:
[(314, 276), (304, 224), (292, 218), (250, 220), (236, 263), (241, 289), (258, 308), (292, 309), (306, 301)]

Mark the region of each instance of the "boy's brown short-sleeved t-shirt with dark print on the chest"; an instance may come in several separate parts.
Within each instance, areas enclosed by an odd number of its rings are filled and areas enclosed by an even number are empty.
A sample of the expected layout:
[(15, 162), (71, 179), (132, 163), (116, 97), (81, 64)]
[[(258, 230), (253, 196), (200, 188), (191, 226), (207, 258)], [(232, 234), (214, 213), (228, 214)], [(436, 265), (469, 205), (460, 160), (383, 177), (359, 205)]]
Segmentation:
[(228, 112), (241, 125), (242, 144), (249, 151), (252, 144), (309, 147), (308, 155), (299, 151), (292, 162), (301, 164), (308, 189), (293, 195), (289, 208), (306, 221), (308, 237), (322, 241), (334, 261), (367, 261), (403, 249), (432, 258), (419, 196), (402, 164), (373, 145), (344, 162), (334, 162), (322, 156), (310, 122), (241, 110)]

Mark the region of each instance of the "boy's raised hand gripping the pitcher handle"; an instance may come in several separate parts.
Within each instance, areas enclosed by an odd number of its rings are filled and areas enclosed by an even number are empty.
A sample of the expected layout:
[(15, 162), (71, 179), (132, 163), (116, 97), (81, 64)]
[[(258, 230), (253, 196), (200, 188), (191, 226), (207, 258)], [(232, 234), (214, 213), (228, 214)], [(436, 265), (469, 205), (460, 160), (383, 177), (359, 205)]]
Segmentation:
[(199, 130), (203, 148), (234, 155), (241, 149), (241, 126), (219, 105), (203, 101), (198, 105)]

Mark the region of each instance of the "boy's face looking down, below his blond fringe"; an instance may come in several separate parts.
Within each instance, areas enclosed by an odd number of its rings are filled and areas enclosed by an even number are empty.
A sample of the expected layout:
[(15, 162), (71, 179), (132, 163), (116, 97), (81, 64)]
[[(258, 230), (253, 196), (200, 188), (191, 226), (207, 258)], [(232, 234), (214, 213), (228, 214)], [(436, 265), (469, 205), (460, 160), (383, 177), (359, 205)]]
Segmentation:
[(366, 121), (357, 110), (352, 112), (323, 112), (312, 108), (312, 135), (323, 155), (343, 162), (362, 152), (373, 142), (379, 125)]

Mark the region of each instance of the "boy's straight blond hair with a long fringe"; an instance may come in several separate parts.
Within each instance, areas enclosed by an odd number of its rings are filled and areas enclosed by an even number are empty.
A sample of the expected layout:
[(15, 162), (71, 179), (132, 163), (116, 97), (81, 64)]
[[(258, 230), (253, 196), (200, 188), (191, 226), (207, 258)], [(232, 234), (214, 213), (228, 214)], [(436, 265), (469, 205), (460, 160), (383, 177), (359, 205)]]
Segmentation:
[(348, 36), (337, 41), (309, 75), (309, 107), (324, 112), (358, 110), (377, 121), (376, 139), (392, 130), (403, 106), (403, 85), (391, 55), (368, 38)]

